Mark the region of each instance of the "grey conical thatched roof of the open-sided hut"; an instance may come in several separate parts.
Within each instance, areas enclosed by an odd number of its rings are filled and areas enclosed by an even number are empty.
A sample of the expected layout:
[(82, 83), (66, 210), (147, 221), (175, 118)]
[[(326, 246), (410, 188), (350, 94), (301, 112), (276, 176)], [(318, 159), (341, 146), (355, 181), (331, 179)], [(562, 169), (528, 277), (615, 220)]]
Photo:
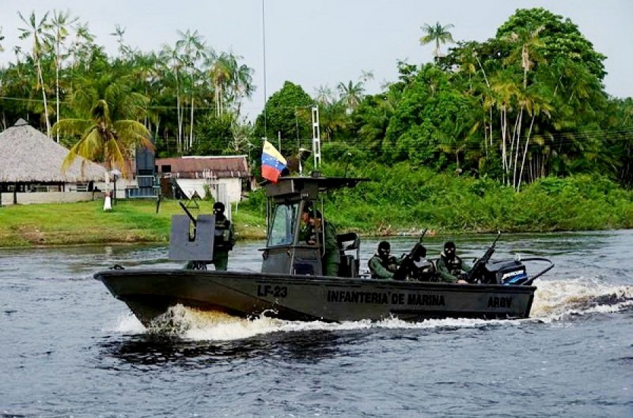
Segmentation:
[(24, 119), (0, 133), (0, 183), (78, 183), (105, 181), (108, 171), (77, 157), (65, 172), (64, 148)]

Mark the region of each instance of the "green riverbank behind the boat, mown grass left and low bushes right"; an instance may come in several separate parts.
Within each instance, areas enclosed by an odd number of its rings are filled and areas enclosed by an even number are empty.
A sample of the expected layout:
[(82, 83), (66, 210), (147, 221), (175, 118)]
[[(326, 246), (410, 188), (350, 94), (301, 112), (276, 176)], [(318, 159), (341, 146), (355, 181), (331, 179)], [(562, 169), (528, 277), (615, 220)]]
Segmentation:
[[(336, 169), (330, 176), (342, 176)], [(544, 178), (517, 193), (486, 178), (437, 174), (408, 164), (366, 166), (357, 177), (371, 181), (326, 197), (325, 214), (338, 233), (364, 236), (461, 233), (554, 232), (633, 228), (633, 192), (606, 178)], [(202, 200), (195, 215), (210, 214)], [(266, 200), (252, 192), (234, 207), (238, 240), (266, 235)], [(0, 207), (0, 247), (34, 247), (99, 243), (165, 242), (171, 218), (183, 214), (178, 201), (119, 200), (112, 211), (103, 201)]]

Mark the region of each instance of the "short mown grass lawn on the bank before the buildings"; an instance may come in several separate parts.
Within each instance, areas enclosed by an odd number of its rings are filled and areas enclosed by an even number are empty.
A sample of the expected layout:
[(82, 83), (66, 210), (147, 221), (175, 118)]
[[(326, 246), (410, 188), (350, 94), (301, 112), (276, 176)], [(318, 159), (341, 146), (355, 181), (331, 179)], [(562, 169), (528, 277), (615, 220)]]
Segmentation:
[[(212, 202), (198, 205), (190, 208), (194, 216), (211, 213)], [(174, 214), (184, 214), (176, 200), (163, 200), (158, 213), (153, 200), (118, 200), (112, 211), (103, 211), (103, 200), (12, 205), (0, 208), (0, 247), (167, 243)], [(238, 209), (234, 221), (241, 240), (265, 237), (262, 216)]]

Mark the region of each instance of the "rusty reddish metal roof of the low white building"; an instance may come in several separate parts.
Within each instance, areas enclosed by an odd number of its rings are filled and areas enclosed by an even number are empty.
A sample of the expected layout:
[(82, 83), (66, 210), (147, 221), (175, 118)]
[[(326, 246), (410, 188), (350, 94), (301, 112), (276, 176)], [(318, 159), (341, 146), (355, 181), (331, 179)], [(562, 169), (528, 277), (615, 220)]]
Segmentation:
[[(229, 178), (248, 177), (245, 155), (219, 155), (213, 157), (181, 157), (156, 159), (158, 174), (170, 173), (179, 178)], [(170, 166), (170, 171), (163, 171)]]

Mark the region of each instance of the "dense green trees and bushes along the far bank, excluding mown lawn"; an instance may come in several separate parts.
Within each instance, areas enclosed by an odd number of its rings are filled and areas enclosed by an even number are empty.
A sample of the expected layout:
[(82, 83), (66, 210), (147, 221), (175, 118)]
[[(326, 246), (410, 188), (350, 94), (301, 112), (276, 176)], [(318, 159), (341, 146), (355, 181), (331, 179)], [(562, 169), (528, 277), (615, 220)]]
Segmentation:
[[(347, 208), (331, 214), (343, 228), (632, 226), (633, 99), (604, 92), (606, 56), (573, 22), (543, 8), (520, 9), (494, 38), (458, 41), (446, 54), (440, 44), (453, 42), (452, 25), (423, 25), (421, 44), (435, 44), (432, 63), (400, 62), (399, 78), (381, 93), (364, 94), (371, 72), (335, 89), (319, 86), (314, 96), (287, 81), (254, 124), (241, 103), (255, 89), (255, 70), (197, 31), (142, 52), (117, 27), (119, 53), (110, 57), (70, 13), (20, 18), (32, 49), (13, 48), (15, 61), (0, 63), (3, 128), (23, 117), (80, 148), (85, 128), (101, 123), (121, 155), (145, 129), (159, 157), (241, 153), (257, 176), (262, 136), (281, 133), (286, 155), (310, 148), (318, 106), (319, 170), (375, 180), (331, 195), (328, 204)], [(88, 153), (117, 164), (104, 147)], [(262, 222), (262, 202), (254, 193), (241, 205), (245, 224)]]

